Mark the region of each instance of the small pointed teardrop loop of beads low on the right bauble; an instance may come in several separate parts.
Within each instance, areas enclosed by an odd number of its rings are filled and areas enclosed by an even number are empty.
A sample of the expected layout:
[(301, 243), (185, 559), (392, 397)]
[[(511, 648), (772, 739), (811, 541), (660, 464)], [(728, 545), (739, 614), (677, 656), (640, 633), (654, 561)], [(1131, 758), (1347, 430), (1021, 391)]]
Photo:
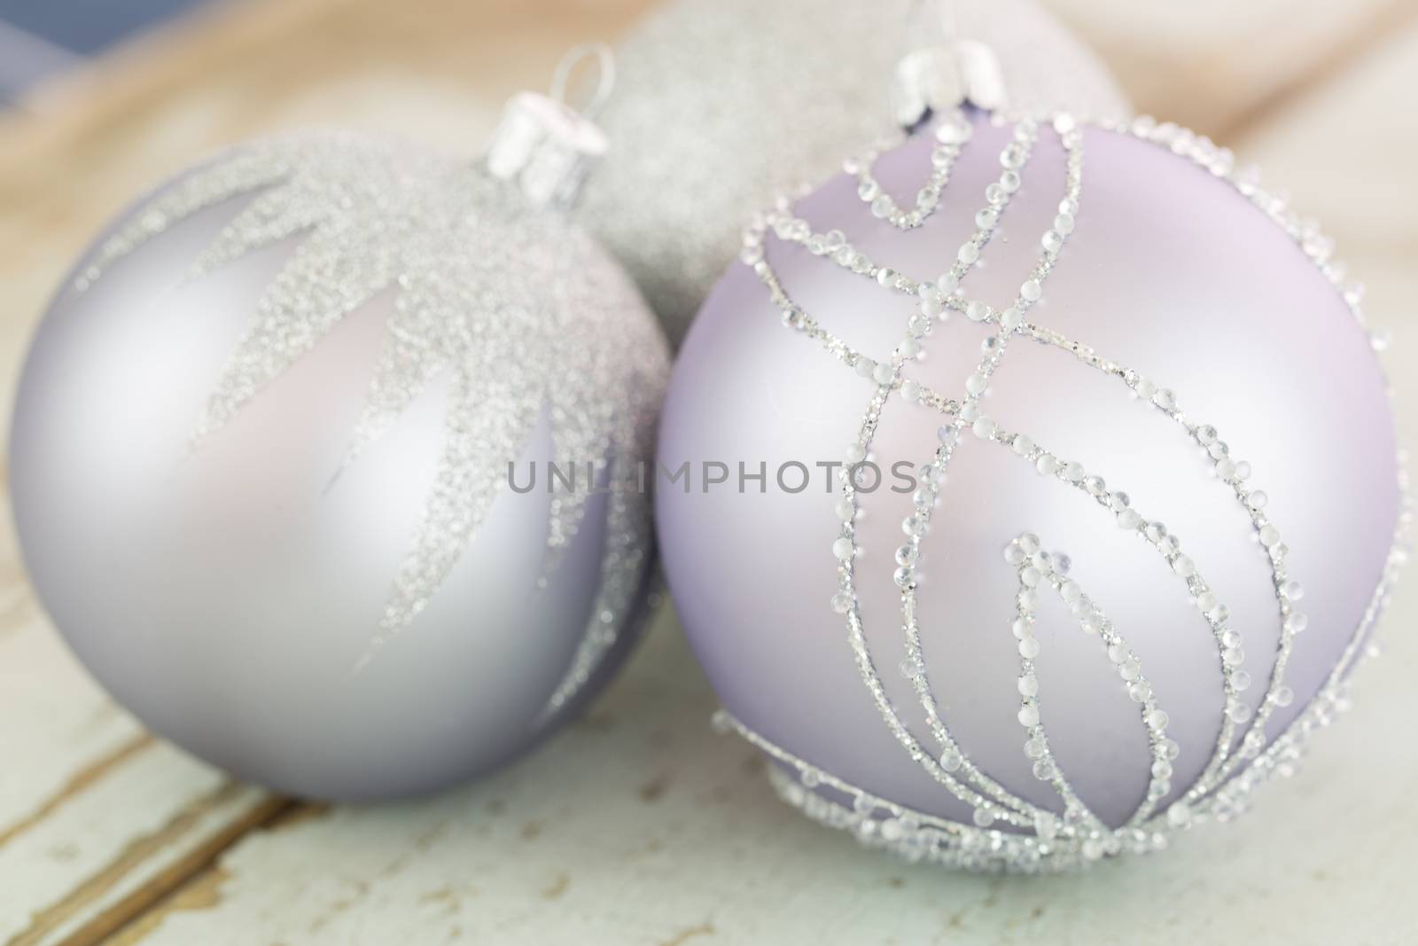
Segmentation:
[[(1064, 779), (1058, 760), (1054, 759), (1049, 750), (1048, 735), (1045, 733), (1039, 709), (1039, 681), (1034, 672), (1034, 658), (1038, 657), (1039, 641), (1034, 637), (1034, 621), (1038, 606), (1037, 589), (1039, 584), (1045, 584), (1058, 593), (1085, 634), (1096, 634), (1099, 637), (1107, 660), (1117, 668), (1119, 677), (1122, 677), (1123, 689), (1127, 692), (1129, 699), (1139, 703), (1143, 726), (1147, 729), (1151, 767), (1147, 793), (1137, 810), (1123, 825), (1124, 828), (1136, 827), (1151, 814), (1157, 803), (1171, 790), (1171, 762), (1178, 753), (1177, 743), (1167, 739), (1168, 718), (1161, 706), (1157, 705), (1151, 684), (1143, 675), (1141, 661), (1123, 635), (1117, 633), (1112, 620), (1083, 593), (1076, 581), (1068, 577), (1069, 557), (1066, 555), (1049, 555), (1044, 552), (1038, 536), (1024, 533), (1005, 546), (1004, 560), (1015, 567), (1020, 579), (1017, 617), (1011, 624), (1011, 631), (1015, 640), (1018, 640), (1020, 651), (1020, 725), (1027, 729), (1029, 736), (1025, 740), (1024, 753), (1034, 760), (1034, 777), (1041, 781), (1049, 781), (1055, 791), (1059, 793), (1066, 810), (1088, 813), (1088, 807)], [(1099, 834), (1109, 837), (1113, 834), (1112, 828), (1107, 828), (1102, 823), (1093, 827)], [(1093, 840), (1096, 841), (1096, 838)], [(1085, 857), (1089, 857), (1088, 851), (1086, 848)], [(1089, 859), (1096, 859), (1096, 857), (1089, 857)]]

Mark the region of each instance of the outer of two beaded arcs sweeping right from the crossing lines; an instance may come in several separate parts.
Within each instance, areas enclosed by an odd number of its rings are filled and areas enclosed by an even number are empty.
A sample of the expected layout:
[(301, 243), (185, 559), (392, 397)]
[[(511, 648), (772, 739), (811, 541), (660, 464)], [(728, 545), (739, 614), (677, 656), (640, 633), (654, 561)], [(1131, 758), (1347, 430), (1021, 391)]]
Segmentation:
[[(1215, 787), (1215, 784), (1224, 781), (1231, 772), (1235, 770), (1235, 766), (1242, 757), (1254, 759), (1259, 753), (1261, 747), (1265, 745), (1266, 720), (1276, 708), (1289, 706), (1295, 699), (1295, 692), (1285, 685), (1285, 671), (1293, 650), (1295, 635), (1302, 633), (1309, 625), (1309, 617), (1295, 607), (1295, 603), (1299, 601), (1305, 593), (1303, 587), (1297, 581), (1288, 577), (1285, 567), (1288, 549), (1285, 543), (1280, 542), (1279, 530), (1262, 512), (1268, 502), (1266, 494), (1261, 489), (1251, 489), (1245, 485), (1245, 481), (1251, 475), (1251, 464), (1231, 458), (1229, 447), (1219, 438), (1215, 427), (1191, 423), (1178, 407), (1177, 396), (1170, 389), (1159, 387), (1156, 383), (1143, 377), (1133, 369), (1123, 367), (1116, 362), (1099, 357), (1093, 349), (1085, 345), (1079, 345), (1058, 332), (1041, 329), (1035, 325), (1025, 325), (1021, 332), (1039, 342), (1071, 352), (1085, 365), (1117, 377), (1127, 384), (1140, 401), (1160, 410), (1164, 416), (1181, 425), (1181, 428), (1185, 430), (1187, 434), (1210, 455), (1217, 478), (1231, 489), (1232, 495), (1241, 503), (1241, 508), (1251, 519), (1259, 545), (1266, 555), (1268, 567), (1271, 569), (1271, 580), (1275, 587), (1276, 600), (1279, 601), (1280, 635), (1276, 645), (1275, 664), (1271, 668), (1269, 682), (1266, 685), (1266, 692), (1261, 699), (1261, 708), (1254, 716), (1251, 716), (1251, 708), (1248, 703), (1238, 702), (1228, 708), (1228, 715), (1234, 716), (1236, 722), (1245, 723), (1249, 720), (1249, 723), (1242, 730), (1239, 750), (1222, 763), (1221, 769), (1214, 773), (1214, 779), (1198, 779), (1198, 781), (1188, 791), (1188, 800), (1195, 801)], [(1198, 607), (1202, 604), (1212, 604), (1214, 607), (1222, 610), (1225, 607), (1222, 604), (1217, 604), (1214, 600), (1200, 601)], [(1241, 672), (1245, 674), (1244, 671)], [(1238, 684), (1244, 684), (1239, 686), (1241, 689), (1249, 686), (1249, 674), (1239, 677)]]

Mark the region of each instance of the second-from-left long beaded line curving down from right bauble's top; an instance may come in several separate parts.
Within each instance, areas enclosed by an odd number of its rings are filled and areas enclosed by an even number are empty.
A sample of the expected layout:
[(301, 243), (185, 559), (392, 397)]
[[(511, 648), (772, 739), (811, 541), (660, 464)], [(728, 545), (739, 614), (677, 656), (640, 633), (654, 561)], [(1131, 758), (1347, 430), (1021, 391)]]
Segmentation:
[[(1076, 210), (1078, 199), (1082, 193), (1082, 136), (1068, 121), (1058, 121), (1055, 130), (1058, 130), (1061, 139), (1064, 140), (1068, 153), (1064, 200)], [(1011, 321), (1015, 318), (1022, 319), (1024, 312), (1027, 312), (1041, 298), (1042, 282), (1052, 269), (1056, 252), (1056, 250), (1045, 250), (1034, 271), (1029, 274), (1029, 278), (1021, 285), (1020, 296), (1015, 301), (1015, 305), (1010, 309), (1010, 312), (1015, 313), (1011, 316)], [(990, 312), (988, 306), (984, 306), (983, 304), (971, 304), (971, 309), (967, 313), (970, 318), (984, 321), (988, 318)], [(903, 662), (903, 668), (920, 669), (920, 672), (910, 674), (910, 678), (915, 684), (922, 709), (926, 713), (926, 722), (930, 726), (932, 735), (942, 746), (942, 759), (946, 763), (959, 764), (967, 777), (984, 784), (993, 784), (993, 780), (987, 779), (984, 773), (970, 763), (968, 757), (964, 756), (954, 739), (950, 736), (949, 728), (940, 719), (937, 701), (929, 686), (929, 678), (925, 674), (920, 625), (916, 621), (915, 564), (920, 553), (920, 539), (930, 526), (933, 515), (932, 511), (939, 496), (939, 482), (944, 477), (950, 458), (953, 457), (960, 428), (966, 423), (978, 423), (978, 418), (976, 417), (977, 401), (983, 396), (990, 376), (1003, 359), (1007, 342), (1008, 330), (1003, 330), (998, 335), (986, 339), (981, 345), (986, 352), (984, 359), (977, 366), (976, 373), (967, 380), (967, 397), (957, 413), (956, 420), (940, 428), (940, 448), (937, 450), (934, 460), (922, 468), (922, 488), (917, 491), (916, 496), (913, 496), (917, 512), (908, 516), (902, 522), (902, 530), (908, 535), (909, 540), (908, 545), (902, 546), (896, 553), (898, 563), (902, 567), (898, 569), (893, 576), (896, 584), (902, 589), (902, 616), (906, 633), (906, 661)], [(1028, 803), (1024, 804), (1025, 813), (1034, 818), (1038, 814), (1038, 808)], [(977, 808), (974, 821), (976, 824), (984, 825), (990, 823), (993, 816), (994, 813), (990, 810), (981, 811)]]

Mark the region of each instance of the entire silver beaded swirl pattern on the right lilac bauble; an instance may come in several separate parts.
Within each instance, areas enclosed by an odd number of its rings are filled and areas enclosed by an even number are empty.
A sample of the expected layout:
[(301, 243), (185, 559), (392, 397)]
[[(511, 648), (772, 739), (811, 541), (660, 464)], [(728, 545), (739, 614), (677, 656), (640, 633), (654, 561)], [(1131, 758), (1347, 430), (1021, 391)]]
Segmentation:
[[(995, 116), (997, 122), (1003, 122)], [(1266, 193), (1254, 172), (1235, 169), (1229, 150), (1176, 125), (1159, 125), (1150, 118), (1127, 123), (1105, 125), (1109, 130), (1130, 133), (1139, 139), (1167, 148), (1190, 157), (1211, 174), (1231, 183), (1242, 196), (1263, 210), (1279, 224), (1343, 294), (1356, 319), (1363, 325), (1360, 311), (1361, 288), (1344, 282), (1343, 267), (1332, 261), (1332, 244), (1313, 224), (1302, 223), (1283, 200)], [(1041, 251), (1032, 271), (1021, 281), (1015, 299), (1005, 308), (995, 308), (981, 299), (971, 299), (961, 284), (980, 260), (995, 228), (1010, 206), (1011, 196), (1021, 186), (1021, 172), (1041, 135), (1052, 133), (1061, 140), (1066, 155), (1066, 177), (1058, 214), (1052, 227), (1042, 234)], [(849, 159), (844, 169), (858, 179), (858, 196), (866, 201), (879, 220), (899, 230), (919, 227), (939, 206), (940, 193), (950, 179), (950, 170), (971, 138), (968, 118), (953, 111), (934, 126), (937, 143), (932, 152), (929, 177), (917, 194), (917, 206), (903, 210), (882, 193), (872, 177), (876, 150), (861, 159)], [(1385, 560), (1378, 587), (1354, 630), (1339, 662), (1306, 709), (1269, 745), (1265, 723), (1276, 708), (1295, 701), (1295, 692), (1285, 682), (1286, 664), (1295, 635), (1305, 631), (1306, 614), (1299, 601), (1302, 584), (1286, 567), (1288, 549), (1278, 526), (1265, 513), (1266, 495), (1252, 485), (1251, 465), (1231, 455), (1221, 433), (1211, 424), (1198, 423), (1180, 407), (1180, 397), (1161, 383), (1119, 365), (1093, 347), (1065, 338), (1031, 322), (1029, 313), (1042, 298), (1046, 279), (1056, 265), (1059, 251), (1073, 231), (1079, 201), (1083, 197), (1083, 133), (1073, 116), (1058, 113), (1046, 121), (1022, 118), (1014, 123), (1011, 140), (1000, 155), (1003, 170), (998, 180), (986, 189), (984, 206), (974, 217), (974, 234), (960, 245), (951, 267), (934, 279), (916, 279), (891, 267), (869, 260), (848, 243), (841, 231), (818, 234), (797, 217), (790, 203), (781, 199), (774, 208), (754, 218), (744, 231), (740, 260), (749, 265), (780, 309), (783, 323), (793, 332), (820, 343), (832, 356), (866, 379), (872, 393), (856, 438), (848, 444), (845, 464), (838, 474), (839, 495), (835, 513), (841, 532), (831, 553), (837, 562), (839, 590), (831, 607), (847, 625), (847, 640), (852, 648), (858, 671), (883, 722), (902, 747), (922, 769), (956, 798), (973, 808), (973, 824), (940, 818), (916, 811), (888, 798), (873, 796), (832, 776), (776, 746), (749, 729), (744, 723), (720, 711), (716, 726), (737, 730), (753, 745), (767, 752), (781, 767), (773, 770), (773, 783), (788, 803), (827, 824), (851, 830), (871, 845), (886, 847), (912, 859), (929, 859), (947, 865), (1048, 871), (1098, 861), (1120, 852), (1149, 852), (1167, 845), (1168, 837), (1193, 824), (1224, 821), (1244, 810), (1252, 787), (1275, 774), (1289, 774), (1300, 756), (1306, 738), (1347, 705), (1349, 671), (1366, 651), (1368, 631), (1387, 603), (1398, 567), (1407, 557), (1405, 540), (1411, 521), (1407, 482), (1400, 475), (1402, 506), (1398, 533)], [(764, 254), (767, 238), (805, 247), (813, 255), (825, 257), (837, 265), (875, 279), (883, 289), (916, 296), (919, 311), (910, 316), (906, 333), (888, 360), (876, 362), (825, 330), (808, 312), (794, 304)], [(964, 382), (959, 396), (932, 390), (903, 376), (903, 367), (920, 353), (932, 326), (951, 312), (991, 326), (984, 340), (981, 359)], [(1280, 635), (1275, 662), (1268, 679), (1252, 681), (1245, 665), (1245, 641), (1231, 625), (1224, 601), (1218, 600), (1198, 564), (1185, 553), (1178, 538), (1164, 523), (1147, 518), (1132, 506), (1127, 494), (1092, 475), (1079, 462), (1061, 457), (1048, 445), (1035, 443), (1025, 433), (1001, 428), (981, 410), (981, 397), (1015, 339), (1032, 339), (1072, 353), (1090, 369), (1116, 379), (1120, 389), (1136, 396), (1167, 421), (1177, 425), (1180, 435), (1198, 444), (1211, 458), (1218, 479), (1229, 485), (1235, 501), (1246, 512), (1255, 529), (1262, 553), (1268, 559), (1279, 607)], [(1381, 343), (1375, 339), (1374, 347)], [(858, 477), (864, 475), (864, 461), (872, 450), (872, 440), (888, 399), (896, 396), (910, 404), (937, 411), (943, 424), (934, 454), (920, 467), (919, 489), (913, 495), (913, 512), (902, 522), (905, 543), (896, 550), (893, 574), (900, 591), (900, 617), (905, 631), (905, 654), (900, 672), (910, 681), (925, 712), (929, 742), (912, 733), (886, 695), (886, 689), (868, 648), (856, 599), (856, 564), (859, 553), (855, 522), (859, 513)], [(1007, 567), (1018, 577), (1015, 617), (1011, 625), (1018, 651), (1018, 723), (1024, 736), (1024, 752), (1032, 762), (1034, 777), (1052, 787), (1062, 814), (1037, 806), (1010, 791), (977, 767), (968, 753), (951, 736), (939, 711), (927, 667), (922, 654), (920, 624), (916, 608), (916, 579), (920, 566), (920, 543), (930, 526), (937, 496), (950, 467), (951, 457), (963, 441), (977, 440), (988, 448), (1008, 451), (1020, 462), (1034, 467), (1046, 478), (1090, 496), (1099, 515), (1109, 516), (1117, 528), (1136, 535), (1151, 553), (1161, 556), (1176, 580), (1187, 587), (1191, 601), (1205, 618), (1215, 640), (1221, 667), (1222, 723), (1215, 745), (1200, 777), (1161, 808), (1171, 791), (1173, 762), (1178, 746), (1167, 736), (1168, 716), (1153, 694), (1143, 674), (1141, 662), (1129, 647), (1122, 631), (1113, 625), (1069, 572), (1069, 559), (1058, 550), (1046, 550), (1042, 539), (1032, 533), (1012, 538), (1004, 549)], [(1041, 594), (1058, 594), (1078, 627), (1098, 638), (1103, 658), (1115, 668), (1120, 685), (1137, 705), (1140, 722), (1150, 746), (1150, 779), (1147, 791), (1120, 827), (1109, 827), (1079, 798), (1059, 769), (1049, 749), (1045, 726), (1045, 682), (1035, 674), (1034, 660), (1039, 641), (1034, 637), (1035, 611)], [(1263, 685), (1259, 709), (1238, 695), (1252, 685)], [(795, 779), (787, 772), (794, 772)]]

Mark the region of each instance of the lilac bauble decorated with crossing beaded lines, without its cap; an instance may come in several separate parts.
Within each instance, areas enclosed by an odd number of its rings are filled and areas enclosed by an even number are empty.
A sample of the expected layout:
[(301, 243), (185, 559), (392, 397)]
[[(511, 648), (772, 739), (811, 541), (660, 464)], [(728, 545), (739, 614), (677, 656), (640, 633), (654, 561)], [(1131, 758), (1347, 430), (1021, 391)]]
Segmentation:
[(747, 228), (662, 416), (722, 722), (947, 864), (1232, 817), (1344, 705), (1402, 559), (1360, 288), (1150, 119), (954, 112), (847, 170)]

